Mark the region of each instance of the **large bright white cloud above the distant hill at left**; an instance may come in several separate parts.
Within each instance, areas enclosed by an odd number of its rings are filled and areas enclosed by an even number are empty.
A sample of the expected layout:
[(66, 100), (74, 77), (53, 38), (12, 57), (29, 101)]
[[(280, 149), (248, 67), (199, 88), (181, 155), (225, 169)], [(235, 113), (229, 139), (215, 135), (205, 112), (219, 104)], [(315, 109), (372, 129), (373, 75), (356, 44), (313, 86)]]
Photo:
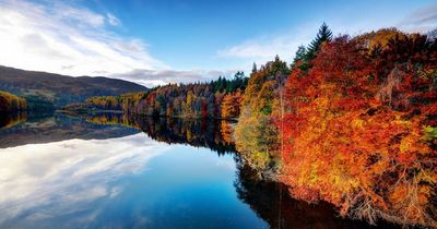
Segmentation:
[(67, 75), (166, 69), (139, 39), (110, 33), (111, 13), (58, 2), (0, 0), (0, 64)]

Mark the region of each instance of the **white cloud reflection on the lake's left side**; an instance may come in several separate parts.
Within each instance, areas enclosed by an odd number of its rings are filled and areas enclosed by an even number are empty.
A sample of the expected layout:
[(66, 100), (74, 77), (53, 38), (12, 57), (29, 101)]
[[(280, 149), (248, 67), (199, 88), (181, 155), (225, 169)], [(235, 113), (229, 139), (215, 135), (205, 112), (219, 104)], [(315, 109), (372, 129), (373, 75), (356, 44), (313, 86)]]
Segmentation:
[[(92, 210), (90, 203), (123, 192), (122, 184), (116, 182), (122, 176), (144, 171), (147, 161), (169, 148), (139, 133), (0, 149), (0, 226), (8, 227), (14, 218), (32, 224)], [(74, 220), (84, 224), (93, 215), (98, 213)]]

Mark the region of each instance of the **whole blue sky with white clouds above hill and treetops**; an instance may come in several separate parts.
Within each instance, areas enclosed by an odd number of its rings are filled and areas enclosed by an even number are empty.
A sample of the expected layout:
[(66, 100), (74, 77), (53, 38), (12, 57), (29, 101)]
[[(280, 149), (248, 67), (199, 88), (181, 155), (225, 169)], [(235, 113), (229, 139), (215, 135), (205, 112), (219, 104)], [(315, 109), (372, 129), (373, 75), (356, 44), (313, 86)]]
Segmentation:
[(0, 0), (0, 65), (145, 86), (232, 77), (334, 35), (437, 27), (437, 0)]

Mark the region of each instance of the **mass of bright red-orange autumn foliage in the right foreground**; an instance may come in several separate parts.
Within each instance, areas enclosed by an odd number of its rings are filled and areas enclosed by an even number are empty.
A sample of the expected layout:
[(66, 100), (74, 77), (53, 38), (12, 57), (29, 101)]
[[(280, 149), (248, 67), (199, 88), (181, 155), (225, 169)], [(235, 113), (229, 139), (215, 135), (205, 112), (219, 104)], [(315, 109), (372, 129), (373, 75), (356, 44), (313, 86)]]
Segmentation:
[(281, 180), (294, 196), (370, 222), (437, 226), (437, 47), (405, 37), (377, 55), (339, 37), (308, 73), (293, 71), (279, 126)]

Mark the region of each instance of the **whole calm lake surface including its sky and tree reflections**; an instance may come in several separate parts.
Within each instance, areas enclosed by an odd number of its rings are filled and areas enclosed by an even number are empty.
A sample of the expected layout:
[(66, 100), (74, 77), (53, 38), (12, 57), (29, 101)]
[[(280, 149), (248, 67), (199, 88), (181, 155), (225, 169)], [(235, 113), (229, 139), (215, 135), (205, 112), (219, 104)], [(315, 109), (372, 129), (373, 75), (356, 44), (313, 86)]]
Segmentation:
[(375, 228), (260, 179), (225, 136), (228, 123), (13, 120), (0, 129), (0, 228)]

